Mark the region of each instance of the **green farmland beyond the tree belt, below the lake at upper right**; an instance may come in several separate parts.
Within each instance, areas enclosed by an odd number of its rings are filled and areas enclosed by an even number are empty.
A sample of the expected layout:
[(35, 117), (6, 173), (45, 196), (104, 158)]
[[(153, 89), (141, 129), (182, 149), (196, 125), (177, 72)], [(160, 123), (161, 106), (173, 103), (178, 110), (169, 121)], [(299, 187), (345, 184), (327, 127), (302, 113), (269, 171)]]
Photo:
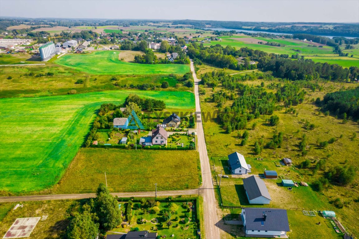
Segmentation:
[[(292, 39), (270, 39), (263, 37), (250, 37), (244, 35), (234, 35), (234, 36), (222, 36), (220, 37), (221, 41), (212, 41), (210, 43), (204, 43), (204, 46), (214, 46), (216, 44), (220, 44), (222, 46), (232, 46), (237, 49), (242, 47), (248, 47), (255, 50), (261, 50), (268, 53), (275, 54), (288, 54), (292, 56), (293, 54), (299, 53), (300, 56), (304, 56), (305, 58), (311, 58), (316, 62), (326, 62), (330, 64), (339, 64), (343, 67), (350, 66), (358, 66), (359, 65), (359, 50), (353, 49), (349, 51), (353, 51), (354, 53), (349, 53), (348, 57), (339, 57), (339, 55), (333, 53), (333, 48), (329, 46), (323, 47), (309, 47), (308, 45), (316, 44), (310, 42), (302, 42), (300, 40), (292, 40)], [(258, 44), (258, 42), (274, 42), (285, 44), (285, 47), (276, 47), (276, 46), (268, 46), (265, 44)], [(299, 50), (300, 52), (293, 51)], [(356, 50), (356, 51), (355, 51)], [(345, 52), (348, 50), (345, 50)], [(356, 53), (355, 53), (356, 52)], [(354, 54), (355, 57), (351, 58), (350, 54)], [(324, 58), (322, 58), (324, 57)]]

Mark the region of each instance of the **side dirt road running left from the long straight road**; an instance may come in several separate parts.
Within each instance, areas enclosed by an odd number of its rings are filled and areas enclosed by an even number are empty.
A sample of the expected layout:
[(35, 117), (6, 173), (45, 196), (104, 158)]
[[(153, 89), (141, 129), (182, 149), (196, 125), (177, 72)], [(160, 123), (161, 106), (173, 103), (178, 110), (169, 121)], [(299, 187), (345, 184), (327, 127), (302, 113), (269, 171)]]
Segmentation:
[[(116, 192), (111, 194), (113, 196), (118, 196), (118, 197), (154, 197), (155, 196), (154, 191), (153, 192)], [(198, 189), (157, 192), (157, 196), (178, 196), (178, 195), (196, 195), (196, 194), (198, 194)], [(14, 196), (14, 197), (0, 197), (0, 202), (86, 199), (95, 196), (96, 196), (95, 193)]]

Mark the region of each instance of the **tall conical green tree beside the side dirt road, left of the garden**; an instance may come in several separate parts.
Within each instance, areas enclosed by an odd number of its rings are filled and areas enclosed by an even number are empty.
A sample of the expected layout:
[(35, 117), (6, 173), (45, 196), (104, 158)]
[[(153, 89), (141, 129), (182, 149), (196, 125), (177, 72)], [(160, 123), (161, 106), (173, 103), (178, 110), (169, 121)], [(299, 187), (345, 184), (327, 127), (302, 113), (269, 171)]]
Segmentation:
[(117, 200), (109, 193), (107, 188), (100, 185), (95, 199), (95, 209), (101, 228), (110, 230), (121, 223), (121, 211)]

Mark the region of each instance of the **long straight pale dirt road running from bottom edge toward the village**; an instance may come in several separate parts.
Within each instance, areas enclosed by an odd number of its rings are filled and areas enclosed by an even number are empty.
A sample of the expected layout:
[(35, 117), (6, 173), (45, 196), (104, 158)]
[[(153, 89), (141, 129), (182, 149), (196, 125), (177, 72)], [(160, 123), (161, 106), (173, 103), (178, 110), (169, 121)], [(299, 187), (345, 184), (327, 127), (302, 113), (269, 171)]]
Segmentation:
[(219, 239), (219, 229), (215, 225), (219, 218), (217, 216), (217, 202), (214, 195), (211, 168), (209, 165), (209, 159), (207, 155), (207, 147), (204, 139), (204, 131), (201, 119), (201, 106), (200, 97), (198, 91), (199, 79), (197, 79), (193, 61), (191, 60), (191, 71), (195, 80), (195, 100), (196, 100), (196, 113), (197, 113), (197, 137), (198, 137), (198, 150), (201, 161), (202, 181), (203, 185), (201, 188), (203, 195), (203, 206), (204, 206), (204, 226), (205, 234), (208, 239)]

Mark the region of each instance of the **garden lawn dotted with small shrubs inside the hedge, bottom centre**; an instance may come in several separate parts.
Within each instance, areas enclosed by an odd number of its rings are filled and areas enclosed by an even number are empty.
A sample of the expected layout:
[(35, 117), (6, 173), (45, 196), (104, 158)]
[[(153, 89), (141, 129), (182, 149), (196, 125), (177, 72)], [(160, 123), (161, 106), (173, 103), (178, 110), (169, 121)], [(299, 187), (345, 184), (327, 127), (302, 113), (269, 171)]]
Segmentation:
[[(189, 219), (191, 219), (190, 222), (185, 224), (184, 221), (182, 221), (186, 216), (185, 213), (187, 212), (187, 209), (182, 206), (182, 202), (176, 202), (174, 203), (177, 205), (178, 209), (174, 211), (174, 215), (171, 215), (171, 221), (172, 225), (167, 226), (165, 224), (164, 219), (162, 218), (162, 213), (145, 213), (143, 209), (141, 208), (139, 203), (134, 203), (129, 205), (127, 202), (123, 203), (125, 207), (131, 206), (132, 209), (132, 215), (133, 220), (131, 220), (130, 225), (126, 226), (125, 228), (114, 228), (111, 231), (117, 231), (122, 233), (127, 233), (130, 230), (134, 230), (135, 228), (139, 228), (140, 231), (142, 230), (148, 230), (150, 232), (157, 232), (158, 235), (171, 238), (171, 235), (174, 234), (174, 238), (197, 238), (197, 227), (192, 222), (192, 211), (189, 212)], [(168, 209), (168, 203), (160, 203), (158, 206), (159, 209), (162, 211), (163, 209)], [(195, 209), (196, 210), (196, 209)], [(195, 216), (195, 215), (194, 215)], [(176, 220), (177, 217), (177, 220)], [(145, 223), (143, 224), (137, 224), (137, 220), (144, 219)], [(157, 219), (157, 221), (151, 222), (152, 219)], [(157, 229), (157, 230), (154, 230)], [(115, 234), (108, 232), (108, 234)]]

